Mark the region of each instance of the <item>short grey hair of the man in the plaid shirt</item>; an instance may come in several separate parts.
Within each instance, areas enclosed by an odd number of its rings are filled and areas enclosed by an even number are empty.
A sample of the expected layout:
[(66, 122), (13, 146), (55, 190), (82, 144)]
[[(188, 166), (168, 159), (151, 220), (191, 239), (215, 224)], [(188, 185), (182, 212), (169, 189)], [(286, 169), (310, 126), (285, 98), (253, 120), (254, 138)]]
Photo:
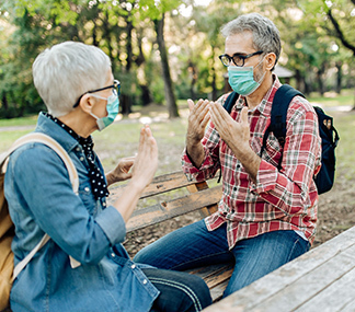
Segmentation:
[[(274, 53), (276, 55), (276, 65), (282, 48), (279, 32), (275, 24), (257, 13), (250, 13), (240, 15), (230, 21), (221, 30), (221, 34), (225, 37), (243, 32), (252, 32), (253, 47), (256, 50), (263, 50), (265, 54)], [(274, 70), (274, 68), (272, 70)]]

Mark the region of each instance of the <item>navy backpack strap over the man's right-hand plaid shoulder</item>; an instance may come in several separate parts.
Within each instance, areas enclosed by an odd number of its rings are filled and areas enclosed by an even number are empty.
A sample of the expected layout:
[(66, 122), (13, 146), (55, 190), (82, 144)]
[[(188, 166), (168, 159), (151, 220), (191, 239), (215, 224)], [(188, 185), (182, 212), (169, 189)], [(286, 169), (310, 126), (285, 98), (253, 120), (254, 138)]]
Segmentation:
[[(280, 88), (276, 90), (273, 100), (272, 111), (271, 111), (271, 124), (264, 134), (263, 146), (260, 152), (260, 157), (262, 157), (263, 151), (266, 148), (266, 141), (270, 132), (274, 134), (279, 145), (284, 148), (285, 140), (286, 140), (287, 109), (289, 103), (297, 95), (305, 97), (305, 95), (301, 92), (299, 92), (298, 90), (294, 89), (288, 84), (283, 84)], [(283, 162), (283, 154), (277, 165), (278, 170), (282, 169), (282, 162)]]

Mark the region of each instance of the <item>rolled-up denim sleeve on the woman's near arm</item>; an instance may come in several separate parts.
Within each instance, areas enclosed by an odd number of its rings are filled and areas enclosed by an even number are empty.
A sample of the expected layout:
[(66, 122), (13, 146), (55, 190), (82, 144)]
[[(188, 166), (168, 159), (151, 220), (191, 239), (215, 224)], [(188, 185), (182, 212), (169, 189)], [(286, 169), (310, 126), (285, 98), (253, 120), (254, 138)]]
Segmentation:
[[(82, 169), (78, 173), (82, 175)], [(72, 192), (61, 159), (49, 148), (27, 145), (15, 151), (8, 174), (12, 176), (8, 181), (13, 184), (14, 199), (27, 213), (27, 220), (16, 220), (14, 213), (14, 223), (21, 227), (21, 222), (34, 222), (80, 263), (98, 263), (112, 245), (124, 241), (126, 229), (119, 212), (107, 207), (96, 218), (92, 217), (82, 195)], [(84, 200), (90, 200), (91, 194), (87, 197)], [(35, 230), (39, 231), (36, 226)]]

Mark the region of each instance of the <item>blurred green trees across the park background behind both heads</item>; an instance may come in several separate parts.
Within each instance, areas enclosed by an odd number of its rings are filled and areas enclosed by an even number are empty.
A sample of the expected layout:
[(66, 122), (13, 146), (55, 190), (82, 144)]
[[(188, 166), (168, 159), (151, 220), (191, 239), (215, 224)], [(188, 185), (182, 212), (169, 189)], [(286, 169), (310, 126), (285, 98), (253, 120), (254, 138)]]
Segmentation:
[(31, 66), (64, 41), (110, 56), (123, 114), (156, 103), (178, 117), (176, 100), (216, 100), (225, 92), (220, 27), (249, 12), (279, 28), (279, 65), (294, 72), (299, 90), (355, 91), (355, 0), (0, 0), (0, 118), (45, 108)]

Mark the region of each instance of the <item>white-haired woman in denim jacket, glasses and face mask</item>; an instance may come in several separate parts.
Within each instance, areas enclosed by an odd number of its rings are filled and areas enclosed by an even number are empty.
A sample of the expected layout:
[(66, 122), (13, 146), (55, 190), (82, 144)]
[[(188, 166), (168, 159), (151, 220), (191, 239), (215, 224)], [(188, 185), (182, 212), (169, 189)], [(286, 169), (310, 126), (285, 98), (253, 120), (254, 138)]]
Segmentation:
[[(61, 43), (35, 59), (33, 78), (48, 109), (39, 114), (35, 131), (68, 152), (80, 186), (78, 196), (60, 158), (42, 143), (27, 143), (11, 155), (4, 189), (15, 224), (15, 264), (44, 233), (50, 236), (15, 279), (11, 309), (136, 312), (208, 305), (209, 290), (201, 278), (136, 264), (121, 244), (125, 222), (157, 170), (158, 148), (144, 127), (137, 157), (104, 175), (91, 134), (118, 114), (119, 82), (108, 57), (94, 46)], [(127, 178), (123, 195), (106, 206), (107, 186)], [(81, 265), (72, 267), (69, 256)]]

